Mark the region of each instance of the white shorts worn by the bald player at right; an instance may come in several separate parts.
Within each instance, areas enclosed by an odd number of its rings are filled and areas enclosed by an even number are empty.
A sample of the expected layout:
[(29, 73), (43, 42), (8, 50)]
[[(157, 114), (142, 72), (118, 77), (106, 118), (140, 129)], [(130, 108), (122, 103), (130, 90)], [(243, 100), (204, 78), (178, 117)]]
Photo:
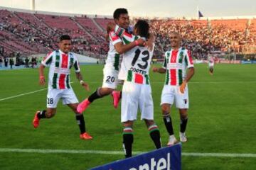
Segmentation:
[(161, 105), (168, 103), (170, 105), (176, 103), (176, 108), (188, 108), (188, 85), (185, 88), (184, 94), (179, 91), (179, 86), (164, 85), (161, 94)]

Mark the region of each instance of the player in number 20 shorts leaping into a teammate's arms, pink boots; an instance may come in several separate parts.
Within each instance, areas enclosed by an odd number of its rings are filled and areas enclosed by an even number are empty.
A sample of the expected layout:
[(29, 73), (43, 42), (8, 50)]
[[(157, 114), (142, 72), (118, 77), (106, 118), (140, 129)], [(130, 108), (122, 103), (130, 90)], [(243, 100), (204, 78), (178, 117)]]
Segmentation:
[[(117, 8), (114, 11), (114, 22), (121, 28), (127, 29), (129, 26), (129, 15), (126, 8)], [(119, 98), (121, 98), (120, 91), (115, 91), (118, 85), (117, 75), (119, 73), (119, 60), (120, 55), (127, 50), (132, 49), (137, 45), (143, 45), (144, 40), (137, 40), (137, 43), (132, 42), (129, 45), (123, 45), (122, 40), (112, 31), (109, 33), (110, 50), (107, 55), (105, 67), (103, 69), (103, 84), (93, 94), (82, 101), (78, 105), (78, 113), (82, 113), (85, 109), (95, 101), (97, 98), (102, 98), (109, 94), (112, 94), (114, 108), (117, 108)]]

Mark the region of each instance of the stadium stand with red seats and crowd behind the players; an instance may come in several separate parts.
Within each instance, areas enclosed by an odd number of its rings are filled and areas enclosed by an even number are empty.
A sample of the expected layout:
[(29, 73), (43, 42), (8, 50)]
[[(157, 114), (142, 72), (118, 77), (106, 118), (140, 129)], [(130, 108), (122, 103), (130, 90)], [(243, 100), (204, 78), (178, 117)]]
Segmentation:
[[(46, 53), (55, 50), (58, 37), (70, 34), (74, 52), (90, 57), (105, 57), (108, 45), (104, 38), (110, 18), (63, 16), (32, 12), (0, 10), (0, 55), (11, 57)], [(136, 19), (135, 19), (136, 21)], [(256, 53), (256, 19), (152, 19), (151, 30), (156, 35), (154, 58), (162, 58), (169, 49), (169, 33), (178, 31), (183, 45), (198, 60), (211, 52)]]

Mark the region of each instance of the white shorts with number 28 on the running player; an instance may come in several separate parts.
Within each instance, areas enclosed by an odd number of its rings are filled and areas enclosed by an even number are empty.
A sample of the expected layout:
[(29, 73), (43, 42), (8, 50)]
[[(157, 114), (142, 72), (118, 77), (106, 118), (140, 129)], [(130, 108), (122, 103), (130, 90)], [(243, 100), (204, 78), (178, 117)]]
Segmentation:
[(73, 89), (48, 89), (47, 108), (56, 108), (60, 98), (63, 101), (63, 105), (78, 103), (78, 98), (75, 96)]

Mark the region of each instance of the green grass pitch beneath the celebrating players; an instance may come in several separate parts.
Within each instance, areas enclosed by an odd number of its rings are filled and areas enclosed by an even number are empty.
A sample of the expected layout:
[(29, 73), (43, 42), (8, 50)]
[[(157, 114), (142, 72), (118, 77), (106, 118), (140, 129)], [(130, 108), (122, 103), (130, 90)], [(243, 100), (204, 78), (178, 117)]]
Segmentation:
[[(90, 92), (82, 89), (75, 74), (71, 75), (80, 101), (102, 85), (102, 68), (102, 65), (81, 67)], [(151, 72), (150, 78), (154, 118), (162, 144), (166, 145), (168, 135), (159, 106), (164, 74)], [(213, 76), (206, 64), (196, 64), (196, 74), (188, 86), (188, 142), (182, 145), (182, 152), (256, 154), (256, 64), (216, 64)], [(0, 149), (122, 151), (120, 106), (114, 109), (110, 96), (95, 101), (84, 113), (87, 131), (94, 137), (90, 141), (80, 140), (75, 115), (61, 101), (54, 118), (41, 120), (38, 129), (33, 128), (34, 113), (46, 108), (47, 90), (1, 101), (44, 88), (38, 85), (38, 69), (0, 71)], [(178, 137), (176, 108), (171, 109), (171, 115)], [(154, 145), (144, 122), (137, 120), (133, 150), (152, 149)], [(122, 154), (0, 152), (0, 169), (90, 169), (123, 158)], [(183, 156), (182, 169), (256, 169), (256, 158)]]

